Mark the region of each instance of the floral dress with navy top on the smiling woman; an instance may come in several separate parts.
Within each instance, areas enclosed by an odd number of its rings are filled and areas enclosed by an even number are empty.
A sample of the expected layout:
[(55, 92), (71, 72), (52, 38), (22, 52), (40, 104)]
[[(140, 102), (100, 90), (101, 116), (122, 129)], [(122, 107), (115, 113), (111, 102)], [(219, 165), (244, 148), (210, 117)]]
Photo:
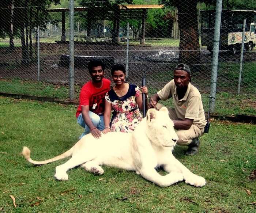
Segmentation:
[(129, 84), (127, 94), (117, 96), (113, 88), (106, 93), (106, 101), (111, 103), (113, 116), (110, 123), (111, 132), (132, 132), (142, 120), (136, 99), (140, 95), (140, 88)]

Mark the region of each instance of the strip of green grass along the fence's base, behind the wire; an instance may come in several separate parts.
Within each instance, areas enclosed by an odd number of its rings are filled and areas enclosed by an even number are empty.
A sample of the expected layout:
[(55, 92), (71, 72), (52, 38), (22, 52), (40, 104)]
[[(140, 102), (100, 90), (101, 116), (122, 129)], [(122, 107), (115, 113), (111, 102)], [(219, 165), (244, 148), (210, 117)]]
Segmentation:
[[(75, 100), (78, 101), (81, 87), (75, 85)], [(149, 87), (149, 95), (158, 92), (158, 88)], [(53, 85), (37, 81), (25, 81), (20, 79), (1, 80), (0, 92), (25, 94), (69, 100), (69, 87), (64, 85)], [(208, 110), (209, 94), (202, 94), (204, 110)], [(162, 102), (167, 106), (173, 106), (172, 99)], [(215, 113), (223, 116), (233, 114), (256, 115), (255, 109), (256, 96), (244, 94), (231, 94), (221, 92), (216, 95)]]

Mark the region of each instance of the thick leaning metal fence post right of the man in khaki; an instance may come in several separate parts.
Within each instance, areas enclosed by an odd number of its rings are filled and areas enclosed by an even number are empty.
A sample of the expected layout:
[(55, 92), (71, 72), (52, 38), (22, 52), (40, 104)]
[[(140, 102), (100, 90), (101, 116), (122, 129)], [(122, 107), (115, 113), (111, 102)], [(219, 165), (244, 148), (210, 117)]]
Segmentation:
[(215, 12), (214, 43), (212, 50), (210, 113), (214, 112), (219, 58), (219, 35), (221, 31), (222, 0), (217, 0)]

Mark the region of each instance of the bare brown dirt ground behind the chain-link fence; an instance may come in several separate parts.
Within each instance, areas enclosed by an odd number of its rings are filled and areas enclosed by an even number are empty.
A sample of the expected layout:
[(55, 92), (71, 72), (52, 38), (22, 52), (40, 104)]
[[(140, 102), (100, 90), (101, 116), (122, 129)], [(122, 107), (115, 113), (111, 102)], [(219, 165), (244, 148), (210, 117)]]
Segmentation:
[[(35, 48), (35, 46), (33, 46)], [(67, 84), (69, 82), (69, 68), (60, 67), (61, 54), (69, 54), (69, 45), (62, 43), (40, 43), (40, 81), (48, 83)], [(75, 44), (74, 54), (78, 56), (108, 56), (114, 57), (115, 63), (125, 64), (125, 45), (104, 44)], [(21, 65), (22, 51), (17, 47), (15, 51), (0, 49), (1, 73), (0, 78), (34, 80), (38, 78), (36, 51), (33, 50), (33, 63)], [(171, 46), (129, 46), (128, 81), (141, 84), (143, 72), (146, 74), (148, 87), (161, 88), (172, 79), (173, 68), (178, 63), (178, 47)], [(200, 70), (193, 70), (192, 83), (200, 92), (210, 91), (212, 55), (206, 49), (201, 51), (202, 64)], [(220, 52), (219, 61), (236, 61), (239, 63), (239, 54), (232, 57)], [(245, 61), (256, 58), (256, 52), (245, 54)], [(106, 77), (111, 79), (110, 69), (105, 71)], [(221, 76), (218, 76), (220, 78)], [(226, 76), (224, 76), (226, 79)], [(75, 67), (74, 80), (76, 84), (83, 84), (90, 80), (86, 67)], [(234, 86), (235, 87), (235, 86)], [(229, 91), (231, 88), (227, 88)], [(218, 90), (218, 88), (217, 88)], [(223, 90), (223, 88), (222, 88)], [(237, 90), (237, 88), (235, 88)]]

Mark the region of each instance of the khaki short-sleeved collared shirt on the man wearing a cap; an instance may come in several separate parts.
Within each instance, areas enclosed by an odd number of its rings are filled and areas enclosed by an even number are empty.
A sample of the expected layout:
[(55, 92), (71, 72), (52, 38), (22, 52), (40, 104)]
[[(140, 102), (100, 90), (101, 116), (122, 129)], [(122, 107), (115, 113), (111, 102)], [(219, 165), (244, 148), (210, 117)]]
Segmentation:
[(161, 100), (173, 98), (174, 109), (180, 120), (193, 119), (193, 124), (199, 129), (204, 128), (206, 119), (200, 92), (191, 83), (188, 84), (187, 92), (182, 99), (178, 99), (174, 80), (167, 83), (162, 90), (157, 92)]

